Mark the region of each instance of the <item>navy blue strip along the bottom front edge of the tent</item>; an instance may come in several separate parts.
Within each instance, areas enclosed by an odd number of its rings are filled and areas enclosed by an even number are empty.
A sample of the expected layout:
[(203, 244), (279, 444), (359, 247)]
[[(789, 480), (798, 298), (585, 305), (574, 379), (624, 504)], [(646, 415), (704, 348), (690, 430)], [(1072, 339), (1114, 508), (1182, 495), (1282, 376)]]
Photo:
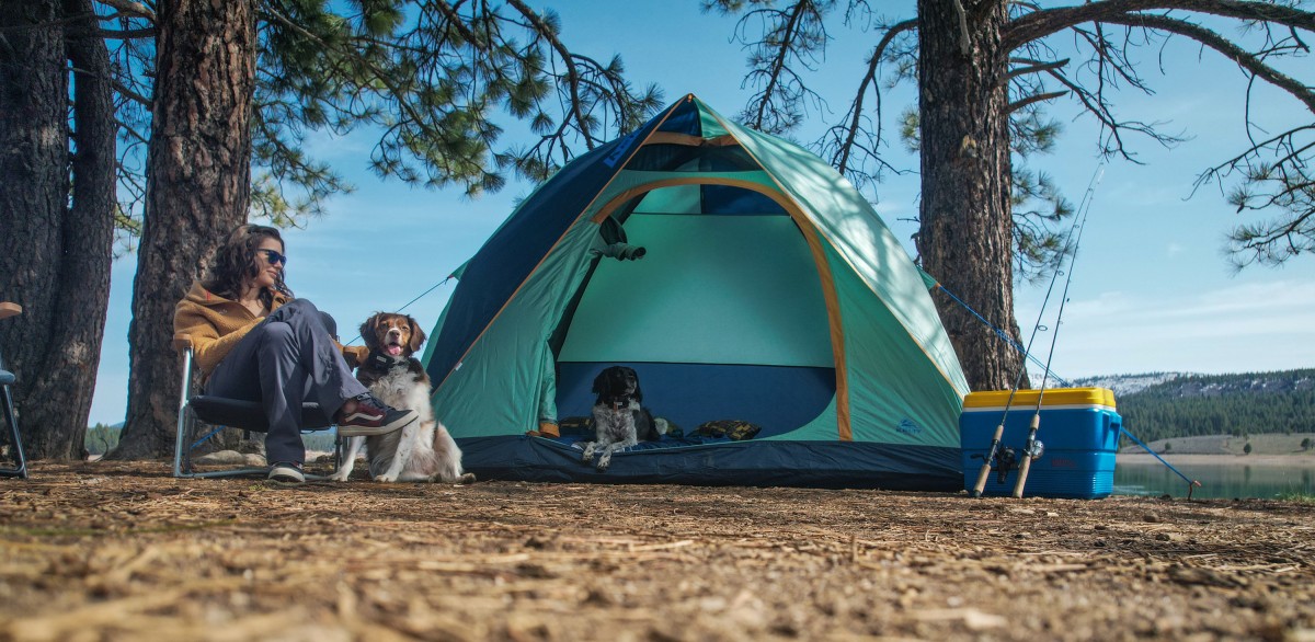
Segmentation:
[(731, 442), (617, 453), (598, 472), (577, 445), (542, 437), (456, 439), (481, 480), (608, 484), (789, 485), (957, 492), (957, 447), (857, 442)]

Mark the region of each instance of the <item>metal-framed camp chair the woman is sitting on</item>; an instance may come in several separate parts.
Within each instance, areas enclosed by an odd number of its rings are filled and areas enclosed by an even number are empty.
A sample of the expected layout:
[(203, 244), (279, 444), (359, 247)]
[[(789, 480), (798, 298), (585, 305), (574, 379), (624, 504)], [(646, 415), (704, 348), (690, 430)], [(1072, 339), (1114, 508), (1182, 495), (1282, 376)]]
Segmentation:
[[(174, 476), (175, 478), (225, 478), (237, 475), (264, 475), (268, 468), (231, 468), (220, 471), (196, 472), (192, 470), (192, 450), (200, 446), (224, 428), (237, 428), (252, 433), (270, 430), (270, 424), (264, 416), (264, 408), (255, 401), (217, 397), (213, 395), (192, 395), (192, 337), (187, 334), (174, 335), (174, 350), (183, 355), (183, 393), (178, 407), (178, 442), (174, 446)], [(193, 430), (199, 422), (210, 424), (214, 428), (200, 439), (192, 439)], [(301, 425), (306, 426), (302, 433), (321, 432), (333, 428), (334, 422), (320, 409), (320, 404), (301, 404)], [(334, 439), (334, 471), (338, 470), (342, 459), (342, 438)], [(325, 479), (322, 475), (306, 474), (306, 479)]]

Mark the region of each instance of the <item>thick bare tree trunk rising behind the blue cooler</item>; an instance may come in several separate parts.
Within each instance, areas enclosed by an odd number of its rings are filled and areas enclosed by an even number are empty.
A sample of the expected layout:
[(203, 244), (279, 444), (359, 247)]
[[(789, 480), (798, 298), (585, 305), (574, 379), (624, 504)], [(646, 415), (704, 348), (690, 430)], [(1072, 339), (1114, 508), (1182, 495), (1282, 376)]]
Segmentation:
[[(1009, 53), (999, 47), (1005, 3), (976, 4), (918, 1), (918, 253), (924, 270), (1016, 341), (1005, 79)], [(956, 11), (965, 5), (967, 43)], [(968, 384), (973, 389), (1014, 385), (1023, 357), (943, 293), (936, 295), (936, 307)], [(1022, 382), (1026, 387), (1026, 372)]]

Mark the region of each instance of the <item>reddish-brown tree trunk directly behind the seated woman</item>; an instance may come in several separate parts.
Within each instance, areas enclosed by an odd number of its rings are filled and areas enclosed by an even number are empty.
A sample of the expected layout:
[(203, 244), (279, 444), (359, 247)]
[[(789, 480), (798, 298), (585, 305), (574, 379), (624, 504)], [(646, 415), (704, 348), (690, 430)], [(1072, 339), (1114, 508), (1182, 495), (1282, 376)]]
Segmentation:
[(174, 305), (224, 235), (246, 220), (251, 185), (255, 13), (250, 0), (164, 0), (146, 212), (129, 328), (128, 421), (117, 459), (166, 457), (181, 362)]

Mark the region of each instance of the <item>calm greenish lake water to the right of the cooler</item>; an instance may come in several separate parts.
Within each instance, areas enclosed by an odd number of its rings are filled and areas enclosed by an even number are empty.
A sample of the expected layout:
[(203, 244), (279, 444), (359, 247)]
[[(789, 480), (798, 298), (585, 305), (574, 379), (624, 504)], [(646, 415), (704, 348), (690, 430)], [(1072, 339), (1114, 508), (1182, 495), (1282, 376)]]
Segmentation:
[[(1201, 482), (1197, 499), (1274, 499), (1278, 495), (1315, 496), (1315, 466), (1230, 463), (1174, 463), (1190, 479)], [(1118, 462), (1114, 495), (1187, 496), (1187, 483), (1160, 462)]]

